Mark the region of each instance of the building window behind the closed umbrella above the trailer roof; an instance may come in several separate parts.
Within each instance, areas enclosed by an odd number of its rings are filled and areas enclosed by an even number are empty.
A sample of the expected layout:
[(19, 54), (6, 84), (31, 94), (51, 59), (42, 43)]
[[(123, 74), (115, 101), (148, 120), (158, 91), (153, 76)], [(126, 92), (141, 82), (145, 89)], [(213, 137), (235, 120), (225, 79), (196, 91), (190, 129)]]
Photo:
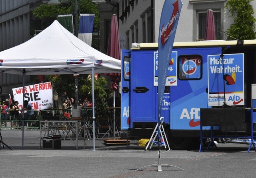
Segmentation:
[[(206, 16), (207, 10), (204, 12), (198, 12), (198, 39), (204, 40), (205, 30), (206, 30)], [(220, 11), (213, 11), (214, 24), (215, 24), (215, 36), (216, 40), (222, 40), (220, 33)]]

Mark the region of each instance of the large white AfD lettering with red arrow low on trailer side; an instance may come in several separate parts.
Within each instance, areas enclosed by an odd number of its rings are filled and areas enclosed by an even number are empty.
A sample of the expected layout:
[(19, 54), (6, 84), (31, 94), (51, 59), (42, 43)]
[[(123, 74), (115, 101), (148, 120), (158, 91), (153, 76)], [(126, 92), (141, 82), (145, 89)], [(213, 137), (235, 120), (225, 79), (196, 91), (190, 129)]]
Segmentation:
[(188, 111), (188, 109), (184, 108), (180, 115), (180, 119), (191, 119), (189, 121), (190, 127), (196, 127), (196, 126), (200, 125), (200, 120), (195, 121), (195, 119), (200, 119), (200, 108), (193, 107), (190, 109), (190, 111)]

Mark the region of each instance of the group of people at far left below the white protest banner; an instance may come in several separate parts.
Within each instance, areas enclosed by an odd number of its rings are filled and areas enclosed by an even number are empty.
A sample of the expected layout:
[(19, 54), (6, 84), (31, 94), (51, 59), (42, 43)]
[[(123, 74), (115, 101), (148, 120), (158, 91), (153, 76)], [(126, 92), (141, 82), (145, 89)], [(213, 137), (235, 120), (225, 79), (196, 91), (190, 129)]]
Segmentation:
[[(20, 129), (22, 127), (22, 108), (19, 106), (18, 101), (10, 102), (10, 105), (6, 105), (6, 101), (2, 101), (0, 105), (2, 127), (6, 127), (8, 119), (10, 119), (10, 129)], [(9, 118), (8, 118), (9, 116)], [(27, 125), (27, 120), (31, 120), (34, 116), (32, 105), (27, 100), (24, 101), (24, 126)], [(28, 121), (28, 127), (31, 126), (31, 121)]]

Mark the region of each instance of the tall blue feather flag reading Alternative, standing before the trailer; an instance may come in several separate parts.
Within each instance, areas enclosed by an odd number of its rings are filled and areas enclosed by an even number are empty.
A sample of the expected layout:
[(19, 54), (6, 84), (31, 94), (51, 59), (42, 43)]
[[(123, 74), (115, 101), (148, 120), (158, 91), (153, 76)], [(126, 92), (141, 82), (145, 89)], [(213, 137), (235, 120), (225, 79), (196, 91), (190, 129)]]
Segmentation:
[[(172, 45), (182, 7), (181, 0), (165, 0), (162, 9), (158, 39), (158, 118), (160, 119), (166, 75), (170, 63)], [(158, 119), (158, 120), (159, 120)]]

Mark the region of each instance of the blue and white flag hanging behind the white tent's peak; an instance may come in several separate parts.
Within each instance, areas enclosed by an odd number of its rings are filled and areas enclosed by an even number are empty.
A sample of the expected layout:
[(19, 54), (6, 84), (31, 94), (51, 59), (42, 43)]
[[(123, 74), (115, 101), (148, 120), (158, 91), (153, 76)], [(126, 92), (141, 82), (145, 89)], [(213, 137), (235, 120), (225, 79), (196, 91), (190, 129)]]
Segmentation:
[(92, 32), (95, 14), (80, 14), (78, 38), (92, 46)]

